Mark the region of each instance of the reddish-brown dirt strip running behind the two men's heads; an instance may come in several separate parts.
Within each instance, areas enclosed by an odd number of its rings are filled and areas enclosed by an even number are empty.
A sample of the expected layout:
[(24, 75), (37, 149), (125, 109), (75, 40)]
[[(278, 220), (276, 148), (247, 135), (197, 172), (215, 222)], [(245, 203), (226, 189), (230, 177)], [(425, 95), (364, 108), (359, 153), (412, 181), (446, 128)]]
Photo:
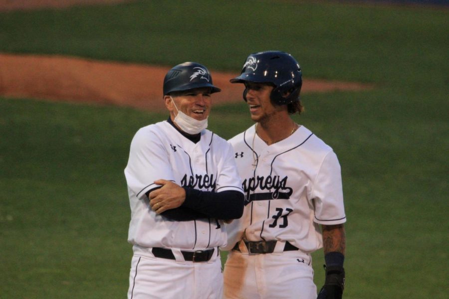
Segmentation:
[[(168, 67), (99, 62), (62, 56), (0, 54), (0, 95), (58, 101), (97, 102), (146, 110), (164, 109), (162, 82)], [(214, 102), (241, 101), (242, 86), (229, 79), (237, 73), (211, 70), (222, 92)], [(360, 90), (350, 82), (304, 79), (302, 93)]]

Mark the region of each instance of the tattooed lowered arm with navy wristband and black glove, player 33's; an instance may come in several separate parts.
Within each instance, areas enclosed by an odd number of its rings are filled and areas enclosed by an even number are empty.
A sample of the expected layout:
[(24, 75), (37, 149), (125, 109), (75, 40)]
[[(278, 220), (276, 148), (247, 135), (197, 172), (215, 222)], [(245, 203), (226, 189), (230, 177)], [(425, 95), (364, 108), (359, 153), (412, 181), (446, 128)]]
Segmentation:
[(317, 299), (341, 299), (345, 284), (343, 262), (346, 236), (343, 224), (322, 225), (326, 281)]

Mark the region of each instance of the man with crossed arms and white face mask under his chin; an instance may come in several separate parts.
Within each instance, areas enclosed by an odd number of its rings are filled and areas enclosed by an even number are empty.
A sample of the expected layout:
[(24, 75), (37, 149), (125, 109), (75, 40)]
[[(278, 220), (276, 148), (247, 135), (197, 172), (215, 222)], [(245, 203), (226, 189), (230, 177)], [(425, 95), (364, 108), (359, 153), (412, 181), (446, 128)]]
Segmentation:
[(213, 85), (199, 63), (164, 78), (167, 121), (141, 128), (125, 176), (133, 244), (129, 299), (220, 299), (225, 221), (241, 217), (244, 195), (233, 150), (207, 130)]

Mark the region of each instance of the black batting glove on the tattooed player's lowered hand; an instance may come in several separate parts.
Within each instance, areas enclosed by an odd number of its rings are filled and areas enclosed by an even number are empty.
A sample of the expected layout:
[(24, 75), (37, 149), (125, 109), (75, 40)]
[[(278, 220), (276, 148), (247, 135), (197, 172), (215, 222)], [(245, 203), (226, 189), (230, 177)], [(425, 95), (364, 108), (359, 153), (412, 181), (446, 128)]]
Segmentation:
[(326, 267), (326, 281), (317, 299), (341, 299), (345, 288), (345, 269), (341, 266)]

